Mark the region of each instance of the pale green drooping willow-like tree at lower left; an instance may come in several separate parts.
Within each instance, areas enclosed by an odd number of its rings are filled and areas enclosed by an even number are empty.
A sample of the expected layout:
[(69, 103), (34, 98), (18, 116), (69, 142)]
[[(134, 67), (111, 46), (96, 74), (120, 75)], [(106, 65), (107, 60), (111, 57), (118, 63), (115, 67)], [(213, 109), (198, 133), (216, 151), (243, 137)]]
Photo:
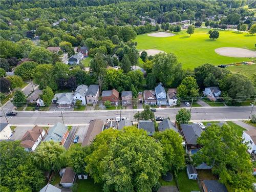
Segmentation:
[(66, 167), (68, 157), (65, 148), (58, 142), (45, 141), (33, 153), (33, 162), (42, 170), (58, 172)]

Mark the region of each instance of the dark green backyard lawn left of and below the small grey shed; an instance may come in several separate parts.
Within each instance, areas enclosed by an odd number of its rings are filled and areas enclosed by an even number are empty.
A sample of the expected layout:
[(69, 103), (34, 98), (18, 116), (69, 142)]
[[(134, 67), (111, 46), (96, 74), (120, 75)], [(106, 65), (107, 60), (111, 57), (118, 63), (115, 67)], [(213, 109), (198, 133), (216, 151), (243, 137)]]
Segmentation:
[(186, 169), (178, 173), (177, 182), (180, 192), (188, 192), (192, 190), (200, 191), (197, 181), (188, 179)]

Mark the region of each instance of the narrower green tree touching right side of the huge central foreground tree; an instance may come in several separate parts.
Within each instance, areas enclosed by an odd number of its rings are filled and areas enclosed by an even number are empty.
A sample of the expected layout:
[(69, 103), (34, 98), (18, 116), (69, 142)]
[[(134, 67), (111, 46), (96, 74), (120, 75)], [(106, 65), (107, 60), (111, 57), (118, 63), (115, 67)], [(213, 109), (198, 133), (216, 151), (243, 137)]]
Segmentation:
[(163, 149), (163, 174), (168, 171), (177, 173), (185, 167), (183, 139), (179, 133), (173, 130), (156, 132), (153, 137), (162, 144)]

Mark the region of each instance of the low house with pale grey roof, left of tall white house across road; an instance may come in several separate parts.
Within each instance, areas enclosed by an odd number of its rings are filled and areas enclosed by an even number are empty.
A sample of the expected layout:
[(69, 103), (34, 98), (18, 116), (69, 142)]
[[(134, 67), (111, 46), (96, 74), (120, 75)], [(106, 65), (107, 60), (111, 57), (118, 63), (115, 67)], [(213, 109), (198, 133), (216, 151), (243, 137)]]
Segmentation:
[(73, 104), (73, 93), (56, 93), (52, 99), (53, 103), (57, 103), (60, 106), (68, 106), (69, 108)]

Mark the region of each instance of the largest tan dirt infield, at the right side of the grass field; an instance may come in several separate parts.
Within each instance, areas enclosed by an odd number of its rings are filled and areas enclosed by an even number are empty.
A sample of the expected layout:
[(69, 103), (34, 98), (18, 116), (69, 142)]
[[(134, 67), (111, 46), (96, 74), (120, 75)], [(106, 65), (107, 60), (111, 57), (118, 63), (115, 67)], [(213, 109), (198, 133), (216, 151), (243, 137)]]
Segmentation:
[(256, 51), (236, 47), (221, 47), (215, 52), (227, 57), (256, 57)]

